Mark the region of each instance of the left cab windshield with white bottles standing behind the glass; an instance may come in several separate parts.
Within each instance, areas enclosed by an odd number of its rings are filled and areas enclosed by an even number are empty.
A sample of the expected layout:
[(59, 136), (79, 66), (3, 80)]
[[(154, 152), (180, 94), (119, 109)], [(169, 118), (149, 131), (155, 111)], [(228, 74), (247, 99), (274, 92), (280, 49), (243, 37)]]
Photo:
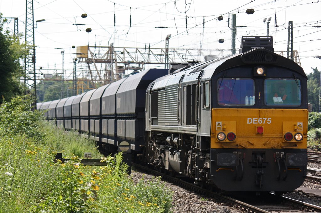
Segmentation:
[(221, 106), (253, 106), (254, 80), (250, 78), (220, 78), (217, 82), (218, 104)]

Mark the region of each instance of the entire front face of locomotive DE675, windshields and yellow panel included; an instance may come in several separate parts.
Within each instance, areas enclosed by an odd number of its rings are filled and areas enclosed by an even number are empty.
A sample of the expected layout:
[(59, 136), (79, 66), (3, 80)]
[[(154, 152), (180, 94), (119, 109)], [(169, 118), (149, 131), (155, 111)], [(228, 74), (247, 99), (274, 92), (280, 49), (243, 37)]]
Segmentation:
[(268, 50), (240, 58), (211, 79), (212, 181), (225, 191), (293, 191), (307, 169), (307, 77)]

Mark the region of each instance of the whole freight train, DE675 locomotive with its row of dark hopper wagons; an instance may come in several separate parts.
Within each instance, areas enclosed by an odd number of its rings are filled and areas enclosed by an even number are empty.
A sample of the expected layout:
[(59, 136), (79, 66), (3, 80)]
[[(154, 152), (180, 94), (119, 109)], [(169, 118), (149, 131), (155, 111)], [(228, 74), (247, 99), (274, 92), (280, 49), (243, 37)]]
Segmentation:
[(281, 193), (304, 182), (307, 76), (274, 53), (272, 37), (242, 37), (237, 54), (178, 66), (38, 108), (102, 148), (127, 140), (136, 161), (196, 184)]

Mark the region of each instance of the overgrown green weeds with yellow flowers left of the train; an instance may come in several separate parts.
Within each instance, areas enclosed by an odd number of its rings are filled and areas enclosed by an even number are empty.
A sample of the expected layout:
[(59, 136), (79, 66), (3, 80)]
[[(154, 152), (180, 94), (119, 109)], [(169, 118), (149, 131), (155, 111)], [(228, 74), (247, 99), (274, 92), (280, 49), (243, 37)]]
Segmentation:
[[(79, 156), (100, 153), (95, 143), (65, 133), (31, 111), (28, 96), (0, 106), (0, 212), (170, 212), (172, 193), (159, 177), (137, 184), (122, 155), (107, 166), (84, 166)], [(68, 162), (54, 162), (62, 152)]]

